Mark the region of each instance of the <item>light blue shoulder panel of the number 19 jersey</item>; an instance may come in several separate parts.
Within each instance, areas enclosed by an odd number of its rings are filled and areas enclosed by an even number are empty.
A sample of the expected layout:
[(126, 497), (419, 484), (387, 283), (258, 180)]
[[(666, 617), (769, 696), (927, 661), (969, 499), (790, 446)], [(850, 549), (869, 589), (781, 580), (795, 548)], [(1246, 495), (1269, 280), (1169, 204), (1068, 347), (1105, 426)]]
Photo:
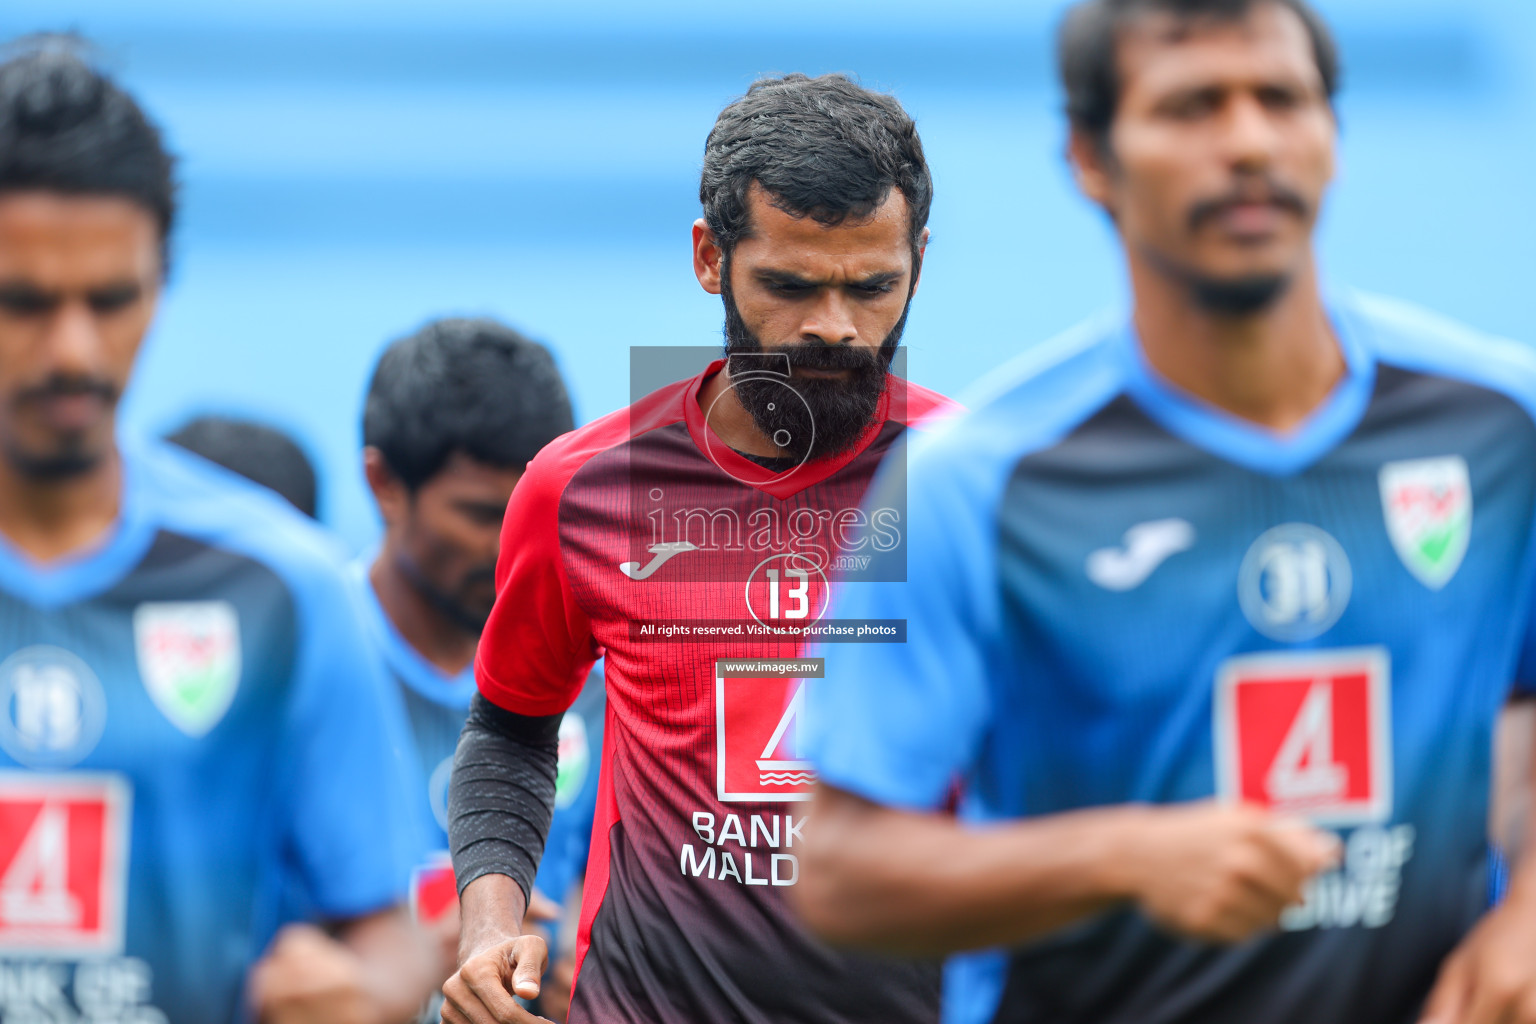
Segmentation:
[(341, 545), (278, 494), (166, 442), (124, 453), (135, 499), (164, 530), (258, 562), (293, 590), (347, 590)]

